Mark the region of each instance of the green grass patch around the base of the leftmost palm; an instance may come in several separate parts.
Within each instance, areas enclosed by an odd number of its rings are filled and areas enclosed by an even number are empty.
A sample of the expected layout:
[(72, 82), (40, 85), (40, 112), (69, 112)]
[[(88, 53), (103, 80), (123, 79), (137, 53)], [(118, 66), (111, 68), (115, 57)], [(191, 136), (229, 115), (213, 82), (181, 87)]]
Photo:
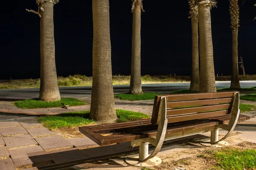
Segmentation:
[(55, 101), (55, 102), (44, 102), (38, 99), (27, 99), (27, 100), (17, 101), (14, 103), (18, 108), (23, 108), (23, 109), (55, 108), (55, 107), (57, 108), (57, 107), (62, 107), (61, 103), (64, 103), (64, 105), (69, 105), (69, 106), (79, 106), (79, 105), (87, 104), (87, 102), (83, 102), (75, 98), (62, 98), (60, 101)]

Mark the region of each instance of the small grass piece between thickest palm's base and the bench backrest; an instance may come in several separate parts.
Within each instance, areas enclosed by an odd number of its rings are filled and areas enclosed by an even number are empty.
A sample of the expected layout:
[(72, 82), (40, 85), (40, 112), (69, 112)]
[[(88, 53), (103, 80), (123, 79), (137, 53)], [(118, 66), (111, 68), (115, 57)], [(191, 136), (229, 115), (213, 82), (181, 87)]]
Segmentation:
[(119, 118), (119, 122), (128, 122), (132, 120), (150, 119), (150, 116), (140, 112), (125, 111), (116, 109), (116, 116)]

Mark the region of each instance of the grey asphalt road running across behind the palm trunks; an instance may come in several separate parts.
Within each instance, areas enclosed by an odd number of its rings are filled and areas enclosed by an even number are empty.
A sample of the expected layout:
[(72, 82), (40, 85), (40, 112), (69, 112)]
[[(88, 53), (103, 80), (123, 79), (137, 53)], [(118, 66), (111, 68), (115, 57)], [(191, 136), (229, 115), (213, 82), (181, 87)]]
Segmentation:
[[(189, 89), (189, 82), (169, 83), (169, 84), (144, 84), (142, 85), (144, 92), (168, 93), (168, 91)], [(256, 86), (256, 81), (241, 81), (242, 88)], [(217, 88), (229, 88), (230, 82), (216, 82)], [(127, 93), (129, 85), (114, 85), (114, 93)], [(61, 87), (60, 93), (62, 97), (90, 97), (91, 86), (86, 87)], [(1, 99), (31, 99), (38, 98), (39, 88), (23, 88), (23, 89), (0, 89)]]

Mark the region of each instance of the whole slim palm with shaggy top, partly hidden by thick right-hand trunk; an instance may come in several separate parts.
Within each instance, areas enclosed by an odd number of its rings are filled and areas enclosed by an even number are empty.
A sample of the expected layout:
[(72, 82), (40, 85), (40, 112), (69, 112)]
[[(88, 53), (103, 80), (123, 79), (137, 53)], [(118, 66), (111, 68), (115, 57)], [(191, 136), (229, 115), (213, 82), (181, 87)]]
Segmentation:
[(195, 0), (189, 0), (189, 18), (192, 28), (192, 71), (190, 91), (199, 91), (199, 50), (198, 50), (198, 6)]

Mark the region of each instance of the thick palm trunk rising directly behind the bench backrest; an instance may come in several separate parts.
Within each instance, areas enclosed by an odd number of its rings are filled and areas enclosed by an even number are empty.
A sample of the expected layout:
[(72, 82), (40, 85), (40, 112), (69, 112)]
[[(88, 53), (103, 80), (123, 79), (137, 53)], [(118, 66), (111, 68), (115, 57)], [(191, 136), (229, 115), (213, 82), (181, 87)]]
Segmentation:
[(199, 2), (200, 93), (216, 92), (210, 12), (214, 5), (210, 0)]

